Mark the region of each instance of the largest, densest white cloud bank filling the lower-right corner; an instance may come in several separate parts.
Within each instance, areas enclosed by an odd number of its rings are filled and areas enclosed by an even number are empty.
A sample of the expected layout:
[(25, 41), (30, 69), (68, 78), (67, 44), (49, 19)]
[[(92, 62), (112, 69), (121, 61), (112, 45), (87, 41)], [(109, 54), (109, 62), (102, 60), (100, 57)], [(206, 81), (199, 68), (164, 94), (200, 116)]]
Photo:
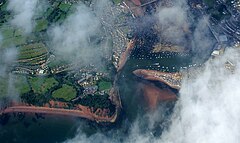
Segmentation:
[[(228, 50), (220, 59), (208, 61), (194, 76), (185, 77), (170, 125), (160, 137), (154, 137), (154, 126), (162, 124), (161, 108), (139, 117), (123, 129), (86, 136), (79, 129), (76, 137), (66, 143), (237, 143), (240, 132), (240, 51)], [(224, 63), (236, 64), (232, 74)], [(194, 73), (192, 73), (194, 74)], [(127, 134), (120, 133), (129, 129)]]

